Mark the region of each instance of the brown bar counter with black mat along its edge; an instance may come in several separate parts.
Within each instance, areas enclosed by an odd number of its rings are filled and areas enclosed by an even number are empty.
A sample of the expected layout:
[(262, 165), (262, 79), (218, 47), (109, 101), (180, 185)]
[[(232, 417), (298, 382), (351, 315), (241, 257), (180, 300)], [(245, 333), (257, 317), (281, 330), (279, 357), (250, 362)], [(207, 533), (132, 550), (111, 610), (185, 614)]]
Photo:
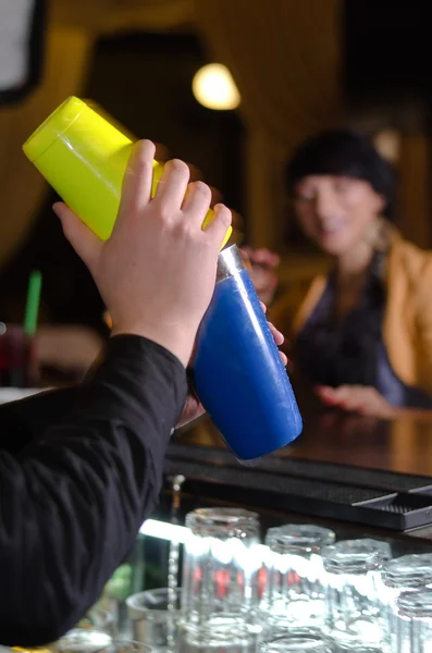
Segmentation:
[(166, 488), (175, 473), (185, 476), (185, 494), (195, 500), (432, 540), (432, 419), (311, 410), (297, 442), (243, 464), (205, 418), (172, 441)]

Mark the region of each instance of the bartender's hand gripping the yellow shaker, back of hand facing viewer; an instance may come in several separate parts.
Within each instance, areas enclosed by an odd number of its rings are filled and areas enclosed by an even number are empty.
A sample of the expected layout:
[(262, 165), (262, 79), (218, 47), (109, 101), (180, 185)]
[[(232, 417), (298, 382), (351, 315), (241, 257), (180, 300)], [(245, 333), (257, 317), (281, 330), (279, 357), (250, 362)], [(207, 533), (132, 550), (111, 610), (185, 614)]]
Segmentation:
[(119, 215), (106, 243), (65, 205), (54, 205), (54, 211), (99, 288), (113, 335), (148, 337), (186, 367), (214, 291), (218, 254), (231, 212), (215, 207), (213, 221), (202, 231), (210, 189), (201, 182), (188, 186), (188, 167), (177, 160), (166, 163), (150, 199), (153, 157), (149, 140), (135, 146)]

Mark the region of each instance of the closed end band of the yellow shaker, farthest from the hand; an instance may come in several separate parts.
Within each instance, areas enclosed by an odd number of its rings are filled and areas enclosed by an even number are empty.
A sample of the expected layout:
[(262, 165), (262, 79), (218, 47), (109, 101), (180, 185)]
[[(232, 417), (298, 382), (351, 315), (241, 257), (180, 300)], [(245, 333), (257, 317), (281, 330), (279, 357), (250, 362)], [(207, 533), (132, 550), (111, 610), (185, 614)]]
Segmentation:
[(85, 108), (86, 103), (78, 98), (71, 97), (65, 100), (23, 145), (27, 159), (34, 163), (69, 130)]

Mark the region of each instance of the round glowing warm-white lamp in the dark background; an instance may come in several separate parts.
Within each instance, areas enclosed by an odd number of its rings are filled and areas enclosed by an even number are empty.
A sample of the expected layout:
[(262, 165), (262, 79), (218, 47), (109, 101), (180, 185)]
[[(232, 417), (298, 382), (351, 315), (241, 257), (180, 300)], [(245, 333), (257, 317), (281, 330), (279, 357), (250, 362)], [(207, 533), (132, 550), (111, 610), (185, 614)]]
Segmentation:
[(219, 111), (232, 111), (240, 103), (240, 94), (229, 69), (222, 63), (209, 63), (195, 75), (192, 89), (196, 100)]

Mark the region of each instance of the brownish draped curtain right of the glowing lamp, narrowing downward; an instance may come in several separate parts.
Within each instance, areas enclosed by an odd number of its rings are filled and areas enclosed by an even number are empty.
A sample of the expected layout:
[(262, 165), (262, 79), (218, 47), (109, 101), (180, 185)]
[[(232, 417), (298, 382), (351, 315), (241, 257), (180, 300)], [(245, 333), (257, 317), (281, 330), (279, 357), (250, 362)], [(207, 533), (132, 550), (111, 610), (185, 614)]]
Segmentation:
[(248, 126), (249, 242), (281, 249), (283, 164), (341, 112), (341, 0), (195, 0), (211, 57), (227, 65)]

